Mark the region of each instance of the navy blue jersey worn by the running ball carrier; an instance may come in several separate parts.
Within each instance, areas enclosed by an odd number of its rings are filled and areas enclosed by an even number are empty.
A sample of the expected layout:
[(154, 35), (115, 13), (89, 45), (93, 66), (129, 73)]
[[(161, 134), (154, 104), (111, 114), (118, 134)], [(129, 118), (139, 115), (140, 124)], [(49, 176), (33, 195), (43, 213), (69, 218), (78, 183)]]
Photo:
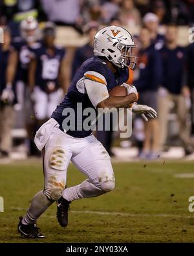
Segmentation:
[[(72, 79), (72, 83), (70, 84), (69, 90), (67, 92), (67, 95), (65, 95), (63, 101), (61, 102), (60, 105), (54, 110), (52, 113), (52, 118), (54, 118), (58, 123), (59, 123), (59, 128), (63, 131), (63, 120), (67, 116), (63, 116), (62, 112), (66, 108), (71, 108), (74, 109), (75, 112), (75, 119), (73, 122), (75, 127), (75, 131), (67, 131), (67, 134), (70, 134), (70, 136), (76, 137), (76, 138), (83, 138), (86, 136), (89, 136), (92, 131), (85, 131), (83, 129), (83, 121), (87, 116), (83, 116), (83, 110), (86, 108), (93, 108), (94, 106), (92, 105), (89, 96), (87, 93), (81, 93), (78, 92), (77, 89), (77, 83), (80, 81), (82, 77), (84, 77), (84, 73), (87, 71), (96, 71), (103, 75), (107, 81), (107, 89), (111, 90), (114, 86), (123, 84), (127, 79), (129, 78), (129, 70), (127, 67), (123, 69), (118, 69), (116, 73), (113, 73), (109, 66), (107, 66), (107, 63), (104, 62), (102, 58), (98, 57), (92, 57), (83, 62), (81, 65), (80, 69), (76, 72), (74, 75), (74, 78)], [(82, 112), (80, 113), (79, 109), (77, 109), (77, 103), (82, 104)], [(96, 112), (97, 114), (97, 112)], [(80, 123), (81, 122), (81, 123)], [(77, 127), (82, 126), (82, 129), (80, 131), (80, 128), (77, 129)]]

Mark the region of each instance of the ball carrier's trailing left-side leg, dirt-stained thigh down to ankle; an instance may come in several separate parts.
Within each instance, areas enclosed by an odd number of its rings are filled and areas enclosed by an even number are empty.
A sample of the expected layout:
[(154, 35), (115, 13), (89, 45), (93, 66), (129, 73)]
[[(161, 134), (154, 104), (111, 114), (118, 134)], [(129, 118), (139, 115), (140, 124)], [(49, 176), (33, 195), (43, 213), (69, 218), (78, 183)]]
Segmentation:
[(21, 221), (23, 225), (36, 225), (36, 222), (54, 202), (61, 198), (66, 184), (67, 167), (72, 153), (66, 134), (54, 128), (43, 149), (43, 170), (45, 187), (32, 198), (27, 214)]

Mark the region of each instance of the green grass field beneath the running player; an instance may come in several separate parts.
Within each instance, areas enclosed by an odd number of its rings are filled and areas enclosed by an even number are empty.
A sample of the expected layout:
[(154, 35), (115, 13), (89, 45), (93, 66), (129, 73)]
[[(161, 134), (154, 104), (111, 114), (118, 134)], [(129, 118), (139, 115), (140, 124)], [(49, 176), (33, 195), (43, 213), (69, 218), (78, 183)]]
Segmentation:
[[(188, 198), (194, 196), (193, 162), (114, 163), (116, 188), (99, 198), (81, 199), (70, 205), (69, 226), (61, 228), (54, 203), (39, 219), (47, 238), (27, 240), (17, 233), (18, 217), (30, 199), (42, 189), (41, 162), (0, 165), (0, 242), (194, 242), (194, 212)], [(67, 186), (83, 175), (69, 166)]]

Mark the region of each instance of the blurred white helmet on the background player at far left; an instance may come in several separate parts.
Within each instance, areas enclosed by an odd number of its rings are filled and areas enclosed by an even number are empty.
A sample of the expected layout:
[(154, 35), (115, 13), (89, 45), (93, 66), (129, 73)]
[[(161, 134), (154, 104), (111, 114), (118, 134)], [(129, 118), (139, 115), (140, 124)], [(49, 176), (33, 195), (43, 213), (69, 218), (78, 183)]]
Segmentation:
[(24, 19), (20, 23), (21, 36), (27, 42), (36, 42), (40, 39), (40, 31), (38, 27), (38, 21), (32, 16), (29, 16), (27, 19)]

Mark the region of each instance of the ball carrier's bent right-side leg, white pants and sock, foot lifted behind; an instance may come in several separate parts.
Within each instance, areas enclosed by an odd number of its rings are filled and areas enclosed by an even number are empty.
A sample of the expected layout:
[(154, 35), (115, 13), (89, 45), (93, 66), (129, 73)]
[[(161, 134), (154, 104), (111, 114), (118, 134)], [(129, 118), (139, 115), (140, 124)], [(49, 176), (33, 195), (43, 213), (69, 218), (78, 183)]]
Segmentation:
[(71, 160), (88, 179), (63, 191), (63, 198), (68, 201), (100, 196), (114, 189), (115, 179), (109, 154), (94, 136), (85, 140), (87, 146)]

